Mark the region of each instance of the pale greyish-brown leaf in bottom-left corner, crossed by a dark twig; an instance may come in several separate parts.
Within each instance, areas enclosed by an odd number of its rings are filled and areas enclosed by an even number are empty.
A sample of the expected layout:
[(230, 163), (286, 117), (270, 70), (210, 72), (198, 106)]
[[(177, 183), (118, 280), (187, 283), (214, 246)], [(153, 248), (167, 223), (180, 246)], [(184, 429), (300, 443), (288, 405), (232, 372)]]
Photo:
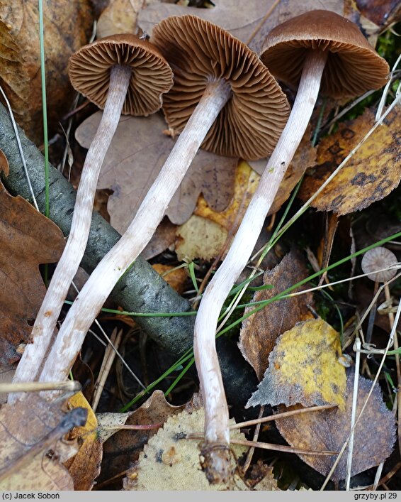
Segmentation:
[[(38, 395), (14, 405), (4, 405), (0, 410), (0, 490), (73, 490), (74, 484), (57, 458), (59, 443), (67, 430), (55, 433), (52, 444), (46, 438), (52, 434), (66, 415), (60, 403), (49, 403)], [(74, 424), (71, 425), (73, 427)], [(63, 456), (66, 445), (62, 447)], [(52, 456), (47, 450), (52, 449)], [(70, 448), (74, 454), (74, 448)], [(16, 463), (23, 460), (23, 464)]]

